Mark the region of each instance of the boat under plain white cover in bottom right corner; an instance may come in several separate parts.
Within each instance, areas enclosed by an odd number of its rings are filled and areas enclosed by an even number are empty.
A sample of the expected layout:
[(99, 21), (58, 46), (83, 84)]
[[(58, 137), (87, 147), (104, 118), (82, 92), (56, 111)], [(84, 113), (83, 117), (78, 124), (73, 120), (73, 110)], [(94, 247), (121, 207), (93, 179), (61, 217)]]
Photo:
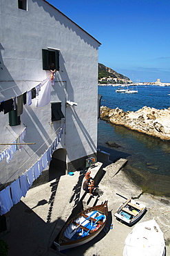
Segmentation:
[(154, 219), (136, 224), (125, 239), (123, 256), (163, 256), (165, 253), (164, 236)]

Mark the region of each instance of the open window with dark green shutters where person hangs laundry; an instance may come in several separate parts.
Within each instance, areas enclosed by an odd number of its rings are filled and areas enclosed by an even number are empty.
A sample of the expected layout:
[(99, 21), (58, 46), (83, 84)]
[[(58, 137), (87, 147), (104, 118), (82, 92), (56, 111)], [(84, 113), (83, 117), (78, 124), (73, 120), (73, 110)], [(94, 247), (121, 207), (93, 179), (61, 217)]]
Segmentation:
[(43, 70), (59, 71), (59, 51), (43, 49)]

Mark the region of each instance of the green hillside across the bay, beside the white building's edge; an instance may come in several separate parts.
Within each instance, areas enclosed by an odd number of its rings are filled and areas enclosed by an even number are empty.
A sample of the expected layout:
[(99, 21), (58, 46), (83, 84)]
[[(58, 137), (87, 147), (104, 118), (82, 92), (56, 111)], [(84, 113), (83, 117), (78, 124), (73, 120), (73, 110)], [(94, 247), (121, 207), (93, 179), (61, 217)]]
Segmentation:
[(122, 80), (122, 81), (126, 80), (127, 82), (131, 81), (128, 77), (125, 77), (125, 75), (121, 75), (116, 71), (114, 71), (113, 69), (98, 63), (98, 80), (100, 80), (103, 77), (117, 78), (118, 80)]

